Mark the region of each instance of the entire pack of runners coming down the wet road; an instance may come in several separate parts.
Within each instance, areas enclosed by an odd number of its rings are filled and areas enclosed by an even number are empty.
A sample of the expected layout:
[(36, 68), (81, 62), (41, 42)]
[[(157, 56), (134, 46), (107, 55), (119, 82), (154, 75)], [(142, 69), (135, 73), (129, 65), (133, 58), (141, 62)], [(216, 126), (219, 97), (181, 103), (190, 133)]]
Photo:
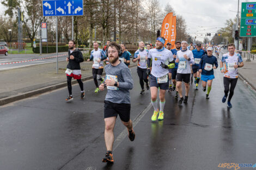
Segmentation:
[[(178, 99), (178, 104), (188, 102), (188, 92), (190, 84), (195, 84), (195, 90), (199, 90), (201, 80), (202, 90), (206, 92), (205, 98), (209, 99), (214, 72), (219, 67), (223, 73), (224, 96), (221, 99), (225, 103), (228, 98), (227, 106), (231, 108), (231, 98), (234, 95), (238, 72), (237, 68), (243, 66), (241, 55), (235, 52), (235, 45), (230, 43), (228, 53), (223, 54), (218, 64), (219, 47), (203, 46), (193, 43), (188, 45), (187, 41), (176, 41), (175, 47), (167, 42), (164, 37), (157, 37), (155, 47), (145, 46), (144, 42), (138, 43), (138, 50), (134, 53), (127, 51), (125, 44), (120, 45), (115, 42), (107, 41), (107, 45), (99, 48), (97, 42), (93, 43), (93, 51), (90, 53), (88, 61), (93, 61), (92, 74), (96, 86), (95, 93), (107, 89), (107, 95), (104, 100), (104, 121), (105, 121), (105, 143), (107, 153), (102, 162), (113, 163), (112, 148), (114, 143), (114, 125), (119, 115), (121, 122), (128, 131), (131, 141), (135, 140), (135, 132), (132, 128), (130, 119), (131, 98), (130, 92), (133, 88), (133, 79), (129, 65), (131, 62), (137, 62), (137, 74), (139, 84), (141, 85), (140, 94), (145, 92), (144, 87), (150, 90), (151, 103), (154, 108), (151, 121), (162, 121), (164, 119), (164, 104), (166, 103), (166, 91), (174, 92), (174, 99)], [(215, 53), (217, 56), (214, 56)], [(82, 53), (76, 48), (75, 41), (69, 42), (68, 66), (66, 77), (68, 82), (69, 96), (67, 101), (73, 99), (71, 79), (78, 81), (81, 88), (81, 99), (86, 96), (83, 83), (81, 81), (80, 62), (83, 62)], [(104, 67), (104, 62), (106, 66)], [(102, 77), (103, 69), (106, 77)], [(98, 84), (98, 81), (101, 84)], [(185, 92), (182, 91), (185, 86)], [(159, 92), (159, 104), (157, 102), (157, 93)], [(160, 107), (159, 107), (160, 106)]]

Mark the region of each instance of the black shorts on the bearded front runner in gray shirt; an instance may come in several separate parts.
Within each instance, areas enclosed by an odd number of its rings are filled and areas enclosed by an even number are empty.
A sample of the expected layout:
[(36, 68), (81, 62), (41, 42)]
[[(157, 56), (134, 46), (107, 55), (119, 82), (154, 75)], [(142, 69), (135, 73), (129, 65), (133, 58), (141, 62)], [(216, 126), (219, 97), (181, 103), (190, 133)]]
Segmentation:
[(104, 118), (117, 117), (119, 115), (121, 121), (130, 121), (131, 104), (127, 103), (113, 103), (104, 100)]

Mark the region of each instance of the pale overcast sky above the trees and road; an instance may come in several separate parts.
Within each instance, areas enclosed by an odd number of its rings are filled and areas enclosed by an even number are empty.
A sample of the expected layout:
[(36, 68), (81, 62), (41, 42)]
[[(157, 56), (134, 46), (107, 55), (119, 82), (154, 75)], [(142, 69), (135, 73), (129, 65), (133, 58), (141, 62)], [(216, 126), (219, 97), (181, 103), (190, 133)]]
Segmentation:
[[(0, 0), (0, 3), (3, 0)], [(241, 2), (255, 2), (256, 0), (240, 0)], [(182, 15), (187, 23), (187, 32), (203, 41), (206, 33), (214, 36), (218, 29), (225, 26), (225, 21), (235, 18), (238, 0), (159, 0), (161, 7), (169, 3), (176, 15)], [(0, 15), (4, 14), (0, 4)], [(231, 10), (231, 11), (230, 11)], [(240, 14), (239, 14), (240, 15)], [(209, 37), (211, 39), (211, 37)]]

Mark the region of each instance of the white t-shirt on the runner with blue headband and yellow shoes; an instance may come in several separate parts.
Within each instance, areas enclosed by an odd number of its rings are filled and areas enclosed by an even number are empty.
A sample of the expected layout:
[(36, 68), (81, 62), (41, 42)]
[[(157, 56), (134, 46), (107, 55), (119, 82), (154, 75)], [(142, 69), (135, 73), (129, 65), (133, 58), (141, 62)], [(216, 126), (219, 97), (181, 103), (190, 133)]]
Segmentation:
[(163, 64), (169, 65), (169, 62), (173, 61), (173, 53), (166, 48), (162, 49), (150, 49), (148, 58), (152, 61), (152, 71), (151, 74), (156, 78), (162, 77), (163, 75), (168, 74), (168, 68), (162, 68), (161, 62)]

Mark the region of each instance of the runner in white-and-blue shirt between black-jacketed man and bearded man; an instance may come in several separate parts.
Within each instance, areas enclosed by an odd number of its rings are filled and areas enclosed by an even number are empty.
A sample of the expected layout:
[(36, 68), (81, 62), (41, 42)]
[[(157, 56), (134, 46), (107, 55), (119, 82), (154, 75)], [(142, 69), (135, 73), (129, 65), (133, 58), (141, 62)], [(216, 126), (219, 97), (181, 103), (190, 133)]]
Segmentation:
[(107, 59), (107, 56), (105, 52), (99, 48), (99, 43), (96, 41), (93, 43), (93, 48), (93, 51), (90, 53), (90, 59), (87, 61), (93, 60), (93, 80), (96, 86), (94, 92), (97, 93), (100, 91), (97, 80), (100, 80), (101, 83), (104, 81), (101, 75), (103, 73), (103, 60)]

